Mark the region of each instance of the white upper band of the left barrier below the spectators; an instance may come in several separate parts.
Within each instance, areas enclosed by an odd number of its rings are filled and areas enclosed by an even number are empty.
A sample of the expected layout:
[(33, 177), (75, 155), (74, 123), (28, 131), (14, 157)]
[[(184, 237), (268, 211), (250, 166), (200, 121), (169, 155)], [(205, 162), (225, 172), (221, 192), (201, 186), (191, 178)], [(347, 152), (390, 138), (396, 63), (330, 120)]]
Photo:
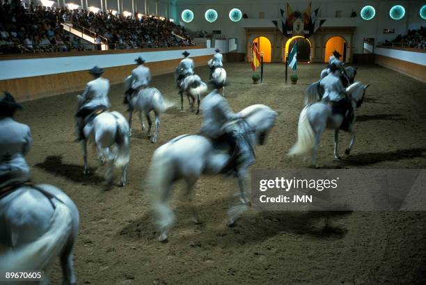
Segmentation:
[[(191, 54), (190, 56), (215, 54), (214, 49), (189, 49), (188, 51)], [(128, 54), (0, 60), (0, 70), (2, 70), (0, 72), (0, 80), (90, 70), (95, 65), (99, 67), (134, 65), (134, 59), (138, 56), (145, 58), (147, 63), (173, 60), (183, 58), (182, 52), (182, 49), (178, 49), (173, 51), (147, 51)]]

